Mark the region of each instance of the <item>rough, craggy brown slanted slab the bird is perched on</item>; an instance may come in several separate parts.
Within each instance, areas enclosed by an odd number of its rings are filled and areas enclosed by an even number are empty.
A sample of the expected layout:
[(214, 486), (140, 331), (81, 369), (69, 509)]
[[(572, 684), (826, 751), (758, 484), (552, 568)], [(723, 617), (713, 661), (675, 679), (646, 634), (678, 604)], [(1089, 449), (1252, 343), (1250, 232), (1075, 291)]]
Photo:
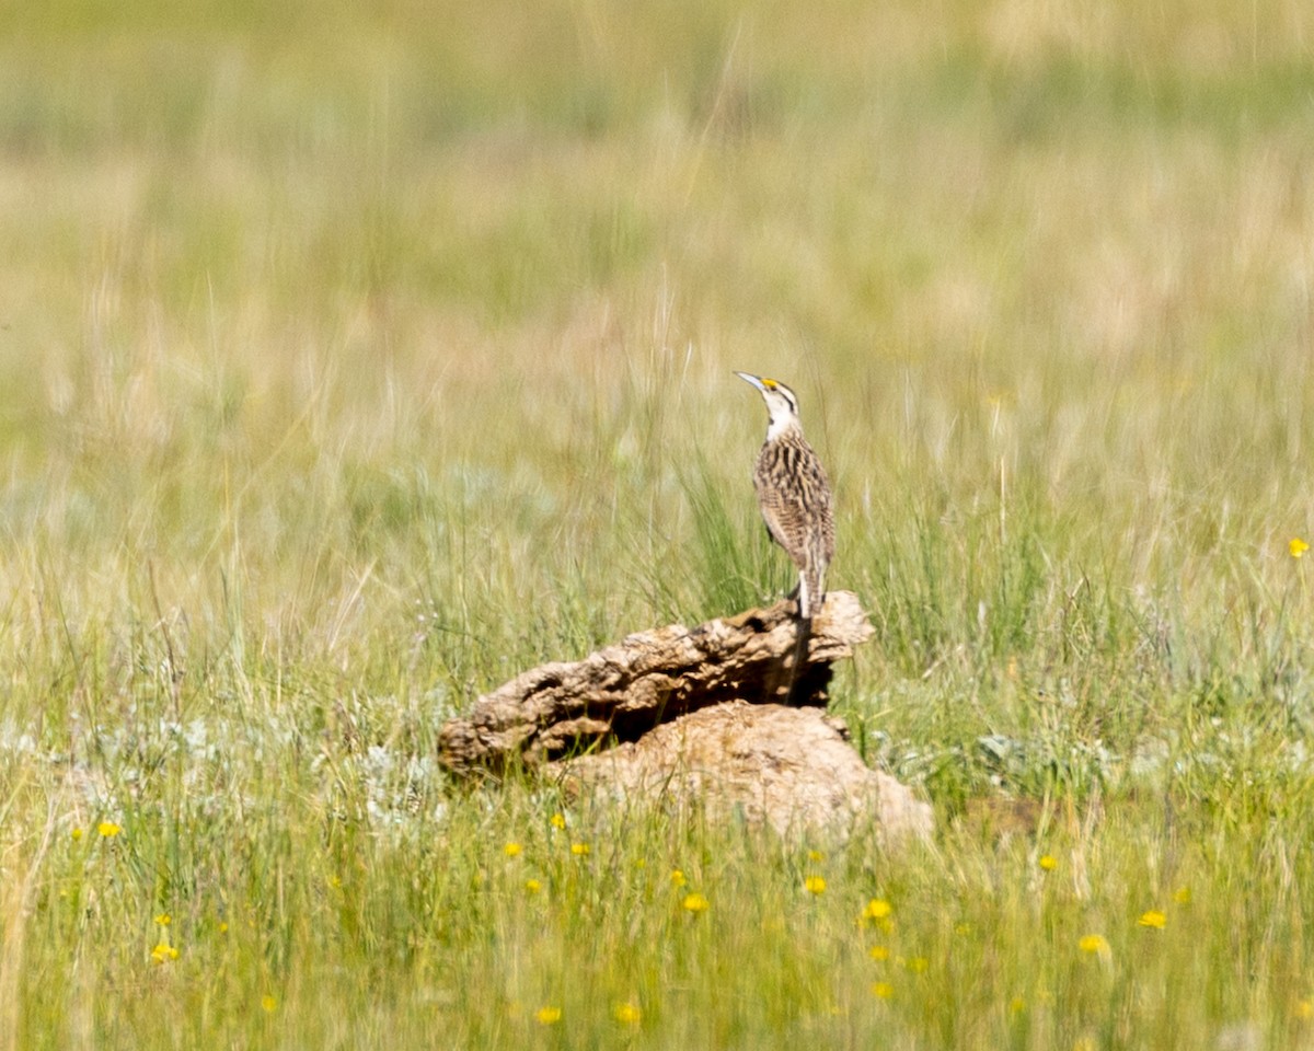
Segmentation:
[(784, 600), (692, 629), (671, 624), (631, 635), (582, 661), (540, 665), (447, 723), (439, 761), (457, 774), (532, 767), (636, 741), (727, 700), (825, 705), (832, 662), (850, 657), (871, 636), (871, 623), (853, 593), (830, 591), (805, 648), (798, 629), (795, 604)]

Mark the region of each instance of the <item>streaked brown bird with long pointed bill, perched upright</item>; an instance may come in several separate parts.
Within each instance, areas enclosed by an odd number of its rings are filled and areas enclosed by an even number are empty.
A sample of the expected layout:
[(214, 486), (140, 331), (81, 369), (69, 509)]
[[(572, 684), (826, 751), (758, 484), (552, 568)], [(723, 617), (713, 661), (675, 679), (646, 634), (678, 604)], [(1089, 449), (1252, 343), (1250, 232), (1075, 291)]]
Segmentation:
[(771, 539), (799, 570), (799, 619), (804, 623), (825, 599), (825, 573), (834, 557), (834, 498), (816, 452), (803, 436), (799, 399), (779, 380), (736, 372), (766, 402), (766, 441), (753, 483)]

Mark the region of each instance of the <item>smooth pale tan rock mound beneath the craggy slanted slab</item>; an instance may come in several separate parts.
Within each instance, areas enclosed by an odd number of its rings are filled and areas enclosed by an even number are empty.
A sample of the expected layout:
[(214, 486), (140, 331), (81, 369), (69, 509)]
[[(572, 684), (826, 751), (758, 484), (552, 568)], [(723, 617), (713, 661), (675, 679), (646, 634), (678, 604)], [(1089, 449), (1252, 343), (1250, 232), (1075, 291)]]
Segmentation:
[(874, 825), (894, 842), (932, 829), (930, 807), (869, 769), (844, 723), (817, 708), (728, 702), (549, 770), (576, 792), (695, 807), (782, 837), (844, 839)]

